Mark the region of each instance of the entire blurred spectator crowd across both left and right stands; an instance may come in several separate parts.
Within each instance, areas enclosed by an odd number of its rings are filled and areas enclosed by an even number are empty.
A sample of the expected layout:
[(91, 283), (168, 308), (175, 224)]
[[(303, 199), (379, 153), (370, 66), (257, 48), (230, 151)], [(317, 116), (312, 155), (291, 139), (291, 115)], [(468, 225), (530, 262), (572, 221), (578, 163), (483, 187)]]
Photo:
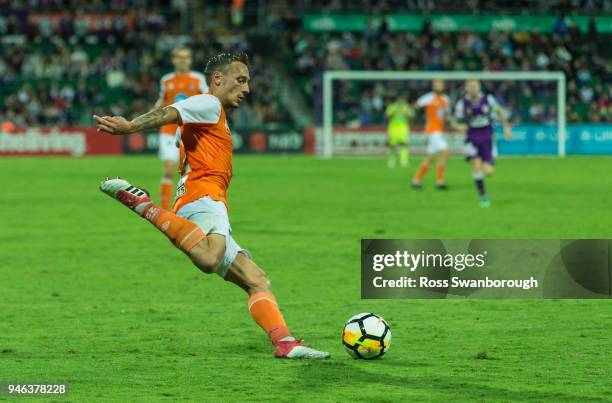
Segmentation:
[[(227, 8), (222, 3), (215, 0), (207, 5)], [(465, 6), (487, 11), (490, 3), (467, 0)], [(578, 5), (588, 13), (606, 12), (611, 2), (501, 3), (534, 12), (565, 12)], [(208, 57), (221, 50), (242, 49), (251, 55), (252, 95), (232, 113), (236, 126), (291, 123), (287, 108), (292, 105), (280, 100), (281, 70), (275, 63), (282, 55), (287, 78), (302, 89), (319, 122), (322, 73), (328, 69), (559, 70), (567, 76), (569, 122), (612, 121), (612, 36), (597, 33), (594, 23), (581, 32), (560, 17), (549, 34), (436, 32), (429, 24), (422, 32), (390, 32), (384, 23), (368, 24), (358, 33), (312, 34), (302, 31), (296, 10), (371, 9), (384, 15), (396, 7), (449, 11), (456, 2), (270, 0), (263, 13), (265, 41), (261, 33), (254, 41), (246, 30), (214, 24), (195, 24), (185, 31), (181, 12), (184, 15), (186, 4), (187, 0), (0, 0), (0, 121), (21, 127), (89, 125), (94, 113), (126, 117), (144, 113), (158, 97), (160, 77), (172, 70), (170, 52), (177, 45), (193, 49), (192, 68), (199, 71)], [(252, 10), (253, 4), (247, 2), (246, 10)], [(247, 15), (246, 20), (254, 17)], [(262, 49), (262, 43), (268, 48)], [(515, 123), (553, 122), (556, 117), (554, 83), (484, 85), (507, 107)], [(400, 91), (414, 101), (429, 87), (429, 82), (414, 81), (338, 83), (335, 122), (381, 124), (386, 104)], [(449, 82), (447, 90), (454, 101), (462, 95), (462, 83)]]

